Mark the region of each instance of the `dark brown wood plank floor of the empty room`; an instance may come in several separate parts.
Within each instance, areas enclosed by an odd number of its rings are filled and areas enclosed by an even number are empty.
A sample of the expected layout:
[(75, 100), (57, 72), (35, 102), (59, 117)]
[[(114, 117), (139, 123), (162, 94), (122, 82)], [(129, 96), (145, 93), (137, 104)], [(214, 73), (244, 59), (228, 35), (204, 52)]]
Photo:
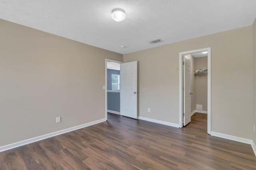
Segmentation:
[(108, 114), (108, 121), (0, 152), (0, 170), (252, 170), (250, 145), (207, 135), (207, 115), (179, 129)]

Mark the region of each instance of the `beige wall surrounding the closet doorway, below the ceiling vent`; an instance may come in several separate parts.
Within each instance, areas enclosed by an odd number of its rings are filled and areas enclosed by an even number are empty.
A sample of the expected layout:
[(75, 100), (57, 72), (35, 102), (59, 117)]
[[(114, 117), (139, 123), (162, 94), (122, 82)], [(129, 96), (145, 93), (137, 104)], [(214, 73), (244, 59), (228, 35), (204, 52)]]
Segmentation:
[(212, 131), (252, 139), (252, 25), (124, 55), (124, 62), (139, 61), (139, 114), (178, 124), (179, 53), (206, 47)]

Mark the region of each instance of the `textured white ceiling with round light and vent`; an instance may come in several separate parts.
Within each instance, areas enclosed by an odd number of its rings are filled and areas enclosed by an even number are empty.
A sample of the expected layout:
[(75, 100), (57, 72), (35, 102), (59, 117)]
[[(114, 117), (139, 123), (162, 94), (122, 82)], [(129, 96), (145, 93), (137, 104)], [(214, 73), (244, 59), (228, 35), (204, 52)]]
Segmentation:
[[(125, 11), (124, 21), (112, 20), (114, 8)], [(0, 0), (3, 20), (121, 54), (252, 25), (255, 17), (256, 0)]]

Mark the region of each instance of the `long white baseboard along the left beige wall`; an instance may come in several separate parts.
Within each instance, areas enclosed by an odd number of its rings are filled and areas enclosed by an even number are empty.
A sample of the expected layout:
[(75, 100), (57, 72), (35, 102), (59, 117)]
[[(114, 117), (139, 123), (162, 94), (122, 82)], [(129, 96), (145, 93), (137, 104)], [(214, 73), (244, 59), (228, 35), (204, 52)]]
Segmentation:
[(9, 149), (13, 149), (13, 148), (16, 148), (16, 147), (20, 147), (22, 145), (27, 145), (27, 144), (30, 144), (30, 143), (33, 143), (33, 142), (36, 142), (36, 141), (41, 141), (43, 139), (47, 139), (47, 138), (50, 138), (50, 137), (61, 135), (63, 133), (67, 133), (67, 132), (70, 132), (70, 131), (75, 131), (77, 129), (81, 129), (81, 128), (84, 128), (84, 127), (87, 127), (87, 126), (91, 126), (91, 125), (94, 125), (94, 124), (97, 124), (97, 123), (104, 122), (104, 121), (106, 121), (106, 119), (100, 119), (100, 120), (92, 121), (92, 122), (89, 122), (89, 123), (85, 123), (83, 125), (78, 125), (78, 126), (70, 127), (68, 129), (63, 129), (63, 130), (60, 130), (60, 131), (56, 131), (56, 132), (53, 132), (53, 133), (48, 133), (46, 135), (34, 137), (34, 138), (31, 138), (31, 139), (26, 139), (24, 141), (19, 141), (19, 142), (16, 142), (16, 143), (11, 143), (9, 145), (4, 145), (4, 146), (0, 147), (0, 152), (5, 151), (5, 150), (9, 150)]

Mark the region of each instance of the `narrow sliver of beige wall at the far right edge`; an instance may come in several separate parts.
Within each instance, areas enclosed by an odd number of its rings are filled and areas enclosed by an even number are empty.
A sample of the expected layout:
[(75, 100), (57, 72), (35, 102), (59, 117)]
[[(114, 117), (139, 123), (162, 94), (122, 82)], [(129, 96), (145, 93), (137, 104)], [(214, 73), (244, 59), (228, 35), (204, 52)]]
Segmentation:
[[(256, 126), (256, 19), (253, 23), (253, 97), (254, 97), (254, 102), (253, 102), (253, 115), (254, 115), (254, 121), (253, 124)], [(255, 127), (256, 128), (256, 127)], [(256, 129), (255, 129), (256, 130)], [(256, 132), (252, 133), (253, 135), (253, 141), (254, 144), (256, 145)]]

